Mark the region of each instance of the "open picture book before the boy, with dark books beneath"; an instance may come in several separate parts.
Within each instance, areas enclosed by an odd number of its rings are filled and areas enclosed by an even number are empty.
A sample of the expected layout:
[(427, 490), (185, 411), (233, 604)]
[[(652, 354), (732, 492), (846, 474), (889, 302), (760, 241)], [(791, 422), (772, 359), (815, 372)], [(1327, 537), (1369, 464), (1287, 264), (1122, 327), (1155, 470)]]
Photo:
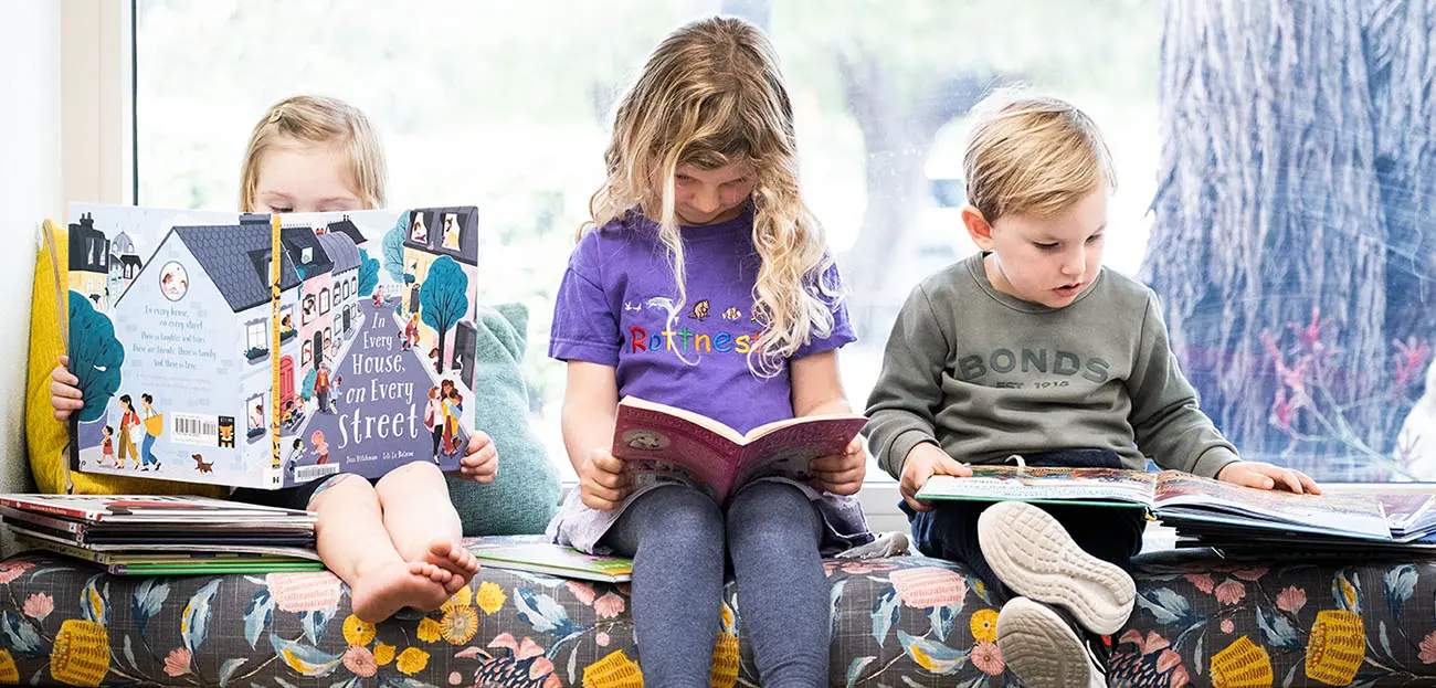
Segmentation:
[(1180, 471), (976, 465), (969, 478), (933, 475), (918, 498), (1144, 508), (1176, 529), (1178, 547), (1223, 554), (1436, 554), (1429, 493), (1292, 494)]

